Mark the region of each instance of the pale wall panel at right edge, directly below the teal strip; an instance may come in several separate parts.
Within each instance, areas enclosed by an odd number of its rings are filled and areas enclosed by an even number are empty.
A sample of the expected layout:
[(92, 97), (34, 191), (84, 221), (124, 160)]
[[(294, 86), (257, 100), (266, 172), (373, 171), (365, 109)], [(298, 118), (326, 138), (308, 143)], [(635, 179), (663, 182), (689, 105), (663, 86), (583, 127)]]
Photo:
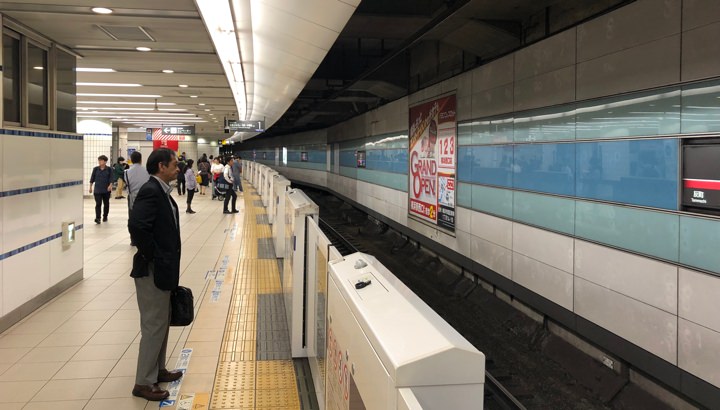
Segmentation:
[(678, 287), (678, 315), (720, 332), (720, 277), (680, 268)]

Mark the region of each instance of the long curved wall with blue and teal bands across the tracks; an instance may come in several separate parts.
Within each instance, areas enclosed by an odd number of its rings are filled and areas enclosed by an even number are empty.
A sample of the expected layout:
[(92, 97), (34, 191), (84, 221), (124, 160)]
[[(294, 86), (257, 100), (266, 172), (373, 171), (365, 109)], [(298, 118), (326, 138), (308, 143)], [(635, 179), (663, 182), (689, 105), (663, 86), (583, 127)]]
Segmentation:
[[(720, 133), (720, 43), (703, 40), (718, 35), (720, 2), (640, 0), (329, 129), (250, 140), (242, 155), (274, 166), (287, 147), (278, 171), (288, 178), (720, 387), (720, 220), (678, 206), (681, 138)], [(455, 236), (407, 216), (408, 106), (448, 92), (459, 119)]]

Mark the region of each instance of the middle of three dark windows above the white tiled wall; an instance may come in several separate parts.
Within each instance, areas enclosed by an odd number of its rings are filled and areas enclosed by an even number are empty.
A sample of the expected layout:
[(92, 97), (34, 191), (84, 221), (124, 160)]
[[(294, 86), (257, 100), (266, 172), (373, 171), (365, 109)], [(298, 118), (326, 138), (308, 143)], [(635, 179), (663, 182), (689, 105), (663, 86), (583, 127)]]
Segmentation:
[(48, 125), (48, 51), (28, 42), (28, 122)]

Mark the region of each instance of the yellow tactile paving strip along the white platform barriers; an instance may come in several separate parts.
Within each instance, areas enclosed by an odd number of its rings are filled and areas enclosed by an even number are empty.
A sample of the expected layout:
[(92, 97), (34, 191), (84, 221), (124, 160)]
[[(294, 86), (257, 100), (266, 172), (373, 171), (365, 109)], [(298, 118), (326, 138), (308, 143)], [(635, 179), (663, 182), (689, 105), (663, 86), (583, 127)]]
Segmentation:
[[(270, 226), (257, 223), (265, 208), (254, 188), (245, 184), (245, 223), (238, 235), (232, 298), (228, 312), (210, 409), (300, 409), (292, 360), (256, 360), (258, 295), (279, 294), (280, 273), (274, 259), (258, 258), (258, 238), (270, 238)], [(228, 270), (230, 274), (230, 270)]]

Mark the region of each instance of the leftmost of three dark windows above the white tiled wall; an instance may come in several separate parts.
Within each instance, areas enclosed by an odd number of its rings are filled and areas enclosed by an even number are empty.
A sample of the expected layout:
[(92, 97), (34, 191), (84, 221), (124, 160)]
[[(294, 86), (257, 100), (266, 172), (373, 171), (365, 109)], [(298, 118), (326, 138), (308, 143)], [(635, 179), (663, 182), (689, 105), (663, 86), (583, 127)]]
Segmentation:
[(3, 121), (20, 124), (20, 35), (3, 32)]

